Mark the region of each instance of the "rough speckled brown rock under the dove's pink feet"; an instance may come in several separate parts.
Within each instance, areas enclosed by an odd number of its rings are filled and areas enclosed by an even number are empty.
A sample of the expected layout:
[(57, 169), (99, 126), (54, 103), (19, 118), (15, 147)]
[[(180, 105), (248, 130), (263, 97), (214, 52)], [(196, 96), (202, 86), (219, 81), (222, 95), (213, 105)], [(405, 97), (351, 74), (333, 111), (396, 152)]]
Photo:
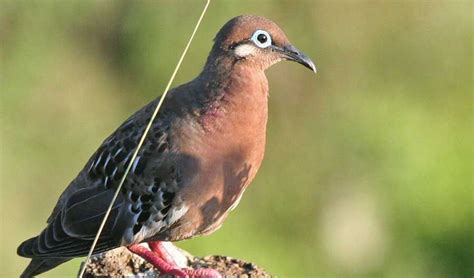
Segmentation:
[[(226, 256), (194, 257), (180, 250), (188, 258), (188, 267), (212, 268), (223, 277), (271, 277), (253, 263)], [(117, 248), (92, 257), (84, 277), (164, 277), (151, 264), (126, 248)]]

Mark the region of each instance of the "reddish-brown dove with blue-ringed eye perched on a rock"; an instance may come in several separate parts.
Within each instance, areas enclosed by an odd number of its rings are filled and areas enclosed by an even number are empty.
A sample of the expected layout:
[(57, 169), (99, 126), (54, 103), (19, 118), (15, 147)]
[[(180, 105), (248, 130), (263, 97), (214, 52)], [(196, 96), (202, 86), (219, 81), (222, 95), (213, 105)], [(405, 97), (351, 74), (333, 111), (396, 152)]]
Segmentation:
[[(171, 89), (139, 149), (94, 254), (127, 247), (160, 273), (219, 277), (179, 268), (164, 249), (221, 227), (264, 157), (269, 85), (265, 70), (284, 60), (313, 72), (313, 61), (273, 21), (230, 19), (217, 32), (205, 65)], [(60, 195), (46, 227), (17, 249), (33, 277), (88, 254), (159, 97), (123, 122)], [(142, 243), (148, 243), (147, 248)]]

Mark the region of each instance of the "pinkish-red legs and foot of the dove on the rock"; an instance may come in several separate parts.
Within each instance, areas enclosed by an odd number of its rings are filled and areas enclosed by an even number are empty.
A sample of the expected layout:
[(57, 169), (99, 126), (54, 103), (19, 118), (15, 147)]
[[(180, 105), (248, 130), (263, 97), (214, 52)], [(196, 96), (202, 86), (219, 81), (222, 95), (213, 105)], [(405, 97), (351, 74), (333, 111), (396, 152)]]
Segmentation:
[(199, 268), (188, 269), (179, 268), (176, 265), (172, 255), (166, 250), (160, 241), (149, 242), (150, 250), (142, 245), (131, 245), (128, 249), (145, 259), (156, 267), (161, 274), (171, 274), (177, 277), (202, 277), (202, 278), (221, 278), (221, 274), (214, 269)]

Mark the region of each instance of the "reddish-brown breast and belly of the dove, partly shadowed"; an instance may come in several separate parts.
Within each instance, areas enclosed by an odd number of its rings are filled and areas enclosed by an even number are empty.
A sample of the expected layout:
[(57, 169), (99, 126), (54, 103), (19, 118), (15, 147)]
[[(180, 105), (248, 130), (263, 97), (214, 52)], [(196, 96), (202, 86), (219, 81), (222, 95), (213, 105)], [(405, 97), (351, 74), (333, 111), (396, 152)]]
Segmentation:
[[(187, 212), (176, 225), (183, 239), (220, 227), (255, 177), (265, 152), (267, 94), (242, 93), (216, 106), (186, 129), (180, 149), (194, 161), (182, 169), (186, 184), (179, 193)], [(203, 124), (204, 121), (204, 124)], [(191, 131), (193, 130), (193, 131)], [(173, 240), (176, 240), (173, 238)]]

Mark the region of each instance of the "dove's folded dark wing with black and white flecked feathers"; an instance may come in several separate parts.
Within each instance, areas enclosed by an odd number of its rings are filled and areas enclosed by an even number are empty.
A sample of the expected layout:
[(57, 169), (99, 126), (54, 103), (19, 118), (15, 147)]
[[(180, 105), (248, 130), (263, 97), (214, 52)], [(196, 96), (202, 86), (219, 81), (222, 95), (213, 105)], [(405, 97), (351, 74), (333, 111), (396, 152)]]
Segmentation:
[[(19, 254), (34, 257), (87, 254), (151, 117), (153, 104), (155, 101), (135, 113), (103, 142), (61, 195), (47, 228), (22, 244)], [(177, 190), (177, 173), (167, 159), (169, 126), (166, 115), (158, 115), (108, 217), (96, 252), (135, 242), (142, 226), (151, 222), (161, 223), (159, 227), (155, 225), (156, 231), (166, 225), (161, 220), (166, 218)]]

